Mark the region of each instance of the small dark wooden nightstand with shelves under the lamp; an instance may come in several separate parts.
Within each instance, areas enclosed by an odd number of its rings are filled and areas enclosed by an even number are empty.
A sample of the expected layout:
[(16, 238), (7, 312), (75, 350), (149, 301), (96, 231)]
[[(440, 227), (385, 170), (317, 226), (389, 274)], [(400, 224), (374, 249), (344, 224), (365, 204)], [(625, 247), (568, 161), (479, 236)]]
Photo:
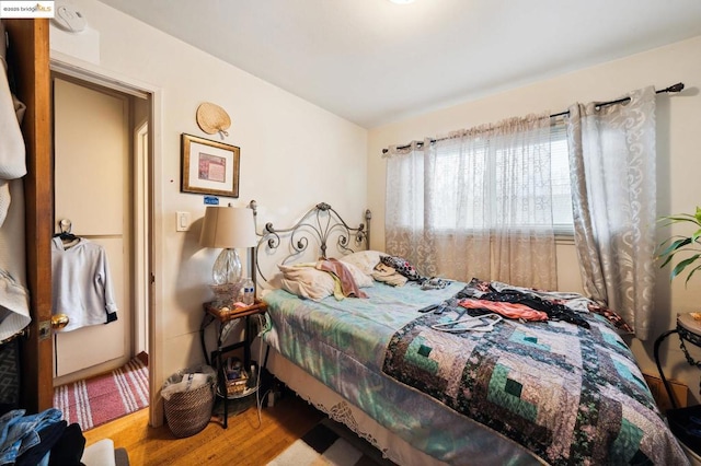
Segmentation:
[[(214, 303), (203, 304), (205, 316), (203, 317), (202, 324), (199, 326), (199, 341), (202, 343), (203, 353), (205, 354), (205, 361), (207, 361), (207, 364), (209, 365), (215, 364), (215, 368), (217, 370), (217, 381), (218, 381), (217, 396), (223, 398), (223, 428), (227, 429), (229, 426), (228, 401), (230, 399), (242, 398), (249, 395), (253, 395), (256, 388), (245, 389), (242, 394), (229, 395), (227, 392), (227, 377), (225, 374), (221, 356), (228, 351), (232, 351), (238, 348), (243, 348), (243, 368), (246, 371), (249, 370), (249, 368), (251, 366), (251, 342), (253, 341), (253, 338), (254, 338), (254, 335), (252, 335), (253, 334), (252, 322), (250, 317), (256, 314), (265, 314), (265, 312), (267, 311), (267, 306), (263, 301), (258, 301), (258, 300), (256, 300), (255, 304), (251, 306), (233, 308), (233, 310), (229, 310), (226, 307), (221, 310), (221, 308), (215, 307), (212, 304)], [(225, 329), (227, 328), (227, 325), (240, 318), (244, 319), (243, 339), (241, 341), (238, 341), (225, 347), (223, 340), (226, 339), (226, 337), (223, 337), (223, 333), (225, 333)], [(207, 351), (207, 343), (205, 341), (205, 329), (211, 323), (217, 324), (217, 349), (215, 349), (214, 351), (211, 351), (211, 353), (209, 353)], [(258, 361), (258, 364), (260, 364), (260, 361)], [(260, 372), (260, 370), (257, 372)], [(251, 374), (251, 376), (253, 375), (254, 374)]]

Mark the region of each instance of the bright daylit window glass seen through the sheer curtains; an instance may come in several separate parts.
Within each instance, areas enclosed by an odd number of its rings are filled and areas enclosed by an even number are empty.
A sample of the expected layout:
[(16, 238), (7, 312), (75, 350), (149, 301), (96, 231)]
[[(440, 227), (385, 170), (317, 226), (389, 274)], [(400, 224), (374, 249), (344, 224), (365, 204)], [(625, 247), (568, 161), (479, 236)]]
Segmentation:
[[(517, 152), (504, 153), (496, 151), (490, 152), (489, 141), (478, 140), (472, 147), (455, 147), (455, 150), (441, 150), (434, 160), (413, 159), (402, 164), (401, 170), (404, 171), (403, 179), (413, 179), (414, 186), (423, 183), (424, 177), (434, 186), (430, 194), (423, 190), (414, 190), (411, 199), (405, 199), (404, 205), (413, 206), (402, 213), (403, 224), (414, 224), (423, 218), (425, 211), (424, 205), (428, 207), (426, 211), (430, 212), (428, 223), (435, 231), (449, 232), (453, 229), (458, 230), (489, 230), (496, 223), (499, 215), (517, 215), (518, 212), (503, 212), (498, 208), (483, 209), (483, 206), (491, 203), (492, 206), (501, 205), (497, 198), (501, 196), (515, 196), (520, 203), (535, 205), (550, 203), (552, 212), (543, 212), (543, 215), (552, 213), (552, 221), (555, 234), (573, 235), (573, 217), (572, 217), (572, 190), (570, 183), (570, 160), (567, 149), (566, 127), (560, 123), (551, 127), (550, 133), (550, 177), (552, 198), (550, 202), (542, 202), (538, 199), (538, 195), (529, 189), (532, 186), (531, 179), (525, 179), (525, 174), (516, 174), (504, 176), (504, 171), (514, 171), (512, 161), (507, 158), (518, 158)], [(529, 151), (537, 151), (537, 147), (530, 145)], [(517, 164), (516, 164), (517, 165)], [(528, 171), (522, 171), (527, 173)], [(503, 186), (502, 179), (508, 178), (509, 185)], [(518, 186), (518, 180), (524, 183)], [(517, 185), (517, 186), (513, 186)], [(441, 189), (445, 187), (445, 189)], [(466, 202), (463, 199), (469, 199)], [(494, 218), (489, 218), (492, 215)], [(518, 224), (518, 219), (513, 219)], [(423, 221), (426, 221), (424, 219)], [(548, 219), (549, 223), (549, 219)], [(545, 221), (543, 221), (545, 224)], [(524, 220), (524, 225), (537, 228), (532, 220), (528, 222)]]

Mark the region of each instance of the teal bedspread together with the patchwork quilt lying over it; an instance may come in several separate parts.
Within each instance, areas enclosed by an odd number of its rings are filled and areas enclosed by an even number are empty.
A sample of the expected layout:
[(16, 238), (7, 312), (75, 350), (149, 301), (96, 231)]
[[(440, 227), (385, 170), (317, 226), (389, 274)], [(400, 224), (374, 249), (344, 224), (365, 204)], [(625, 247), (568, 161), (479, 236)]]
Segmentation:
[(264, 340), (410, 444), (450, 464), (686, 464), (613, 328), (505, 321), (430, 328), (452, 296), (381, 283), (369, 299), (265, 296)]

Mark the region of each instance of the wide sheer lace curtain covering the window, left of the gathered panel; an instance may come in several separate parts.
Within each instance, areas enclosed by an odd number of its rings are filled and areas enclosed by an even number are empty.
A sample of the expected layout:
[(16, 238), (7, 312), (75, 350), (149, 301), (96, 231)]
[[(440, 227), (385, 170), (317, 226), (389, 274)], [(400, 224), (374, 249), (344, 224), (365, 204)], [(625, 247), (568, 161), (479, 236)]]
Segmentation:
[(550, 117), (391, 147), (386, 251), (424, 276), (556, 289)]

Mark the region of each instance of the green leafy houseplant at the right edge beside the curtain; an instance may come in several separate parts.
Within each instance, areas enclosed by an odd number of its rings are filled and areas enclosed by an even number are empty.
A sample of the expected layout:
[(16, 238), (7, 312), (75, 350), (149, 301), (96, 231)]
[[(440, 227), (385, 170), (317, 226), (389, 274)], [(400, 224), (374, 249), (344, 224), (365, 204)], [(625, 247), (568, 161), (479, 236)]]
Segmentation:
[[(697, 264), (701, 258), (701, 207), (697, 207), (696, 214), (678, 213), (675, 215), (663, 217), (660, 220), (666, 221), (665, 226), (686, 222), (693, 223), (694, 225), (694, 231), (690, 236), (675, 235), (663, 242), (659, 245), (659, 249), (662, 252), (657, 255), (657, 258), (664, 259), (662, 266), (659, 266), (660, 268), (669, 264), (677, 254), (681, 253), (685, 255), (686, 258), (679, 260), (671, 269), (669, 279), (673, 280), (675, 277), (688, 269), (687, 279), (685, 281), (686, 286), (697, 270), (701, 269), (701, 264)], [(687, 257), (688, 254), (691, 255)]]

